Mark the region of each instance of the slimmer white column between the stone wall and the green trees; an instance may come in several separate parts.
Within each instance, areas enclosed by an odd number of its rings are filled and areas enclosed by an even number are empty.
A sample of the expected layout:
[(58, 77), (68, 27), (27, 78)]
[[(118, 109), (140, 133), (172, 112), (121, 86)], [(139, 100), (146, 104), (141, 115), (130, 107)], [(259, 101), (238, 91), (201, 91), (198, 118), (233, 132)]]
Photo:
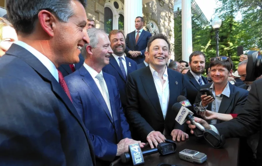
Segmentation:
[(182, 0), (182, 60), (189, 62), (192, 47), (191, 0)]

